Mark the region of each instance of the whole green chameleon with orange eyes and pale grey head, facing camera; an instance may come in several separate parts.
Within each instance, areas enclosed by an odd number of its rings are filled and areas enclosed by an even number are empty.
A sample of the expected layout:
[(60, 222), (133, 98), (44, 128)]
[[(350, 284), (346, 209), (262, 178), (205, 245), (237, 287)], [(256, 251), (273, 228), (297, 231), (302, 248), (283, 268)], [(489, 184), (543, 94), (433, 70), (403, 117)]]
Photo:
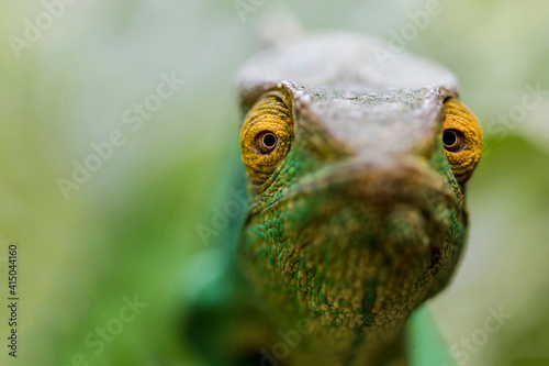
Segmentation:
[(407, 319), (466, 243), (482, 132), (452, 74), (383, 47), (313, 35), (239, 71), (248, 206), (211, 285), (229, 295), (188, 331), (211, 364), (411, 364)]

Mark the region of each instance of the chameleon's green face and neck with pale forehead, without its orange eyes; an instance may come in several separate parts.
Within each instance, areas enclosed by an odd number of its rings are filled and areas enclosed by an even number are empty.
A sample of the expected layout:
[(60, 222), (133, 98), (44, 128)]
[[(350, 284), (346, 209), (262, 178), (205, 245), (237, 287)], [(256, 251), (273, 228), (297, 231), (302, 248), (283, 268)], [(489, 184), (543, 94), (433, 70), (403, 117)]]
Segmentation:
[(235, 291), (193, 315), (194, 341), (220, 365), (405, 365), (406, 320), (448, 284), (467, 237), (441, 143), (457, 87), (258, 80), (254, 67), (244, 111), (278, 93), (293, 141), (265, 182), (248, 180), (236, 274), (212, 285)]

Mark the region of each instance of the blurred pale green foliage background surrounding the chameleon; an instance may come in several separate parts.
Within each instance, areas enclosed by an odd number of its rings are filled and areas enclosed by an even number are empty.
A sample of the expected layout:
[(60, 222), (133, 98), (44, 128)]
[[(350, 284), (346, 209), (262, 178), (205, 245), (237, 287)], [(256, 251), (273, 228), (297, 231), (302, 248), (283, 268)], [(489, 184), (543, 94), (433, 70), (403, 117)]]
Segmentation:
[[(253, 8), (244, 19), (234, 1), (74, 1), (52, 24), (42, 19), (47, 29), (23, 48), (14, 37), (24, 40), (46, 7), (0, 2), (0, 293), (4, 303), (7, 249), (16, 242), (22, 299), (16, 359), (7, 357), (0, 307), (2, 365), (65, 366), (77, 354), (102, 366), (202, 365), (176, 320), (192, 286), (215, 276), (229, 234), (202, 240), (197, 228), (211, 224), (231, 186), (239, 65), (264, 46), (261, 34), (293, 36), (292, 18), (306, 32), (390, 38), (427, 3), (240, 2)], [(439, 3), (406, 49), (458, 76), (486, 154), (468, 187), (468, 251), (428, 308), (449, 346), (482, 329), (490, 308), (513, 314), (468, 365), (549, 365), (549, 3)], [(277, 20), (285, 32), (269, 33)], [(184, 85), (133, 131), (125, 111), (173, 74)], [(519, 113), (531, 88), (547, 91)], [(66, 199), (58, 179), (113, 131), (122, 146)], [(134, 296), (147, 307), (94, 355), (88, 334)]]

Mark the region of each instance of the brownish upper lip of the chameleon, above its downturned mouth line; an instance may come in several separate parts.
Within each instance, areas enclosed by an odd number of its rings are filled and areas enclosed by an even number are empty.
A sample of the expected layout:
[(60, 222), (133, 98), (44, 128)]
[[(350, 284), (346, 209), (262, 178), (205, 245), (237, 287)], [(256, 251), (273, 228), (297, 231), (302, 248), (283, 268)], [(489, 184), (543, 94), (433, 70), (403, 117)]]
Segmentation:
[(447, 181), (419, 157), (338, 162), (302, 178), (291, 192), (271, 207), (307, 197), (360, 200), (379, 208), (407, 203), (427, 211), (433, 208), (434, 200), (457, 204)]

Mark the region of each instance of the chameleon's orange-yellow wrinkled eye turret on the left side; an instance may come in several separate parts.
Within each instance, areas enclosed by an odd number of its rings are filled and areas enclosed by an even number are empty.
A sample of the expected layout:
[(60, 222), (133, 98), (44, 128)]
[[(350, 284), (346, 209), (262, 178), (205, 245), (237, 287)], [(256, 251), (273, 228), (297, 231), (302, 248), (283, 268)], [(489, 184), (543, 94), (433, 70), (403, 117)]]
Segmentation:
[(240, 131), (242, 159), (248, 178), (261, 185), (277, 170), (293, 141), (290, 97), (271, 91), (249, 110)]

